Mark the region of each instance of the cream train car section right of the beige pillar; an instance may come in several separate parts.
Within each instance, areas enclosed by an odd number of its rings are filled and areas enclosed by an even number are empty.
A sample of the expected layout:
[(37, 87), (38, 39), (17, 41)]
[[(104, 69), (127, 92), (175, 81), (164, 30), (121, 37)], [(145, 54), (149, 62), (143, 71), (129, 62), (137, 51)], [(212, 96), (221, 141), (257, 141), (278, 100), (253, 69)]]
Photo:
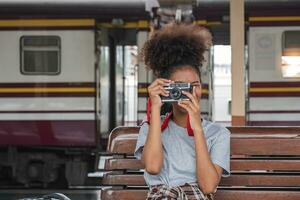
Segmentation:
[(300, 125), (300, 17), (249, 17), (247, 123)]

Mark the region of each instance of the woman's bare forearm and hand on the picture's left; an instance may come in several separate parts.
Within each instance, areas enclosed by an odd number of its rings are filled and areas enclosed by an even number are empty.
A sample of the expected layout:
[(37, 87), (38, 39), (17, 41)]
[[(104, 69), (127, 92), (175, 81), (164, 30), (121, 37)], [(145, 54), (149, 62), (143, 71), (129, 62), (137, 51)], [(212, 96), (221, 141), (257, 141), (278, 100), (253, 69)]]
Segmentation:
[(148, 87), (151, 102), (151, 118), (141, 160), (145, 166), (145, 170), (152, 175), (158, 174), (163, 165), (160, 121), (162, 102), (159, 95), (168, 96), (168, 91), (163, 88), (163, 85), (167, 83), (170, 83), (170, 81), (166, 79), (156, 79)]

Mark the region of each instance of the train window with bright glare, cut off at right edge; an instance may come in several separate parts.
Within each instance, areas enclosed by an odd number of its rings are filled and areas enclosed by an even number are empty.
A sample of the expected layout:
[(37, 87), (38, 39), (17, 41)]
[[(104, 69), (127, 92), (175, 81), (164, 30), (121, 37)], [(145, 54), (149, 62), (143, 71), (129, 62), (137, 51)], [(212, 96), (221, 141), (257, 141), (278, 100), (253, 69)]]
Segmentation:
[(300, 31), (282, 34), (281, 71), (285, 78), (300, 77)]

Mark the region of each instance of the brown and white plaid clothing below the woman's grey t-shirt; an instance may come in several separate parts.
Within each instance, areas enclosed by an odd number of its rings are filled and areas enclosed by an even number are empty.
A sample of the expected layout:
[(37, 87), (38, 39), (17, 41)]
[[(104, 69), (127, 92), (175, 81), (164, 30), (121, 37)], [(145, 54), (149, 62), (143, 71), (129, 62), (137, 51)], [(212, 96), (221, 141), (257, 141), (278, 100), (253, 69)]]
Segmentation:
[(214, 195), (204, 195), (196, 183), (168, 188), (166, 185), (150, 187), (147, 200), (213, 200)]

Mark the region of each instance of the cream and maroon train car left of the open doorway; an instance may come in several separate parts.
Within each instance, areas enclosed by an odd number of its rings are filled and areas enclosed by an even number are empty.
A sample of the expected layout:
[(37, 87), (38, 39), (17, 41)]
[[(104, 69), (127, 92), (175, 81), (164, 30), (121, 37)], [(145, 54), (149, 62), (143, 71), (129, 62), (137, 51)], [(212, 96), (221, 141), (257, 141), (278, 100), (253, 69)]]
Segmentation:
[(62, 171), (82, 184), (93, 163), (94, 27), (93, 19), (1, 20), (0, 163), (17, 182), (47, 184)]

